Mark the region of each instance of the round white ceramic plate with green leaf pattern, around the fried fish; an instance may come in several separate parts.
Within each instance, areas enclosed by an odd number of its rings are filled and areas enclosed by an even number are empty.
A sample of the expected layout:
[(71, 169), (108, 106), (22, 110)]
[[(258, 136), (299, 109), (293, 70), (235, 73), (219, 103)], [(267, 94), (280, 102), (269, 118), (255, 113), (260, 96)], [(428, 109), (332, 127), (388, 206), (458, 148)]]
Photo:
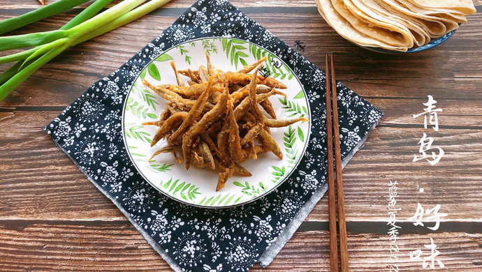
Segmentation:
[[(264, 66), (270, 70), (270, 76), (288, 87), (282, 90), (286, 93), (286, 99), (282, 96), (270, 97), (277, 118), (303, 116), (311, 120), (305, 90), (293, 71), (277, 56), (244, 40), (200, 38), (166, 50), (140, 73), (124, 103), (124, 143), (139, 173), (168, 197), (210, 208), (245, 204), (274, 190), (293, 172), (305, 153), (309, 139), (309, 122), (298, 122), (285, 128), (271, 128), (272, 137), (282, 149), (283, 159), (279, 160), (273, 153), (263, 153), (257, 160), (248, 160), (243, 167), (251, 172), (252, 176), (233, 176), (218, 192), (215, 190), (217, 172), (193, 166), (186, 170), (184, 165), (175, 163), (170, 153), (160, 154), (147, 161), (157, 149), (166, 146), (166, 141), (161, 140), (150, 147), (150, 140), (157, 127), (142, 126), (141, 123), (159, 119), (167, 101), (145, 88), (142, 81), (145, 79), (154, 85), (176, 84), (170, 61), (175, 61), (178, 70), (198, 70), (200, 64), (206, 65), (205, 51), (210, 54), (213, 65), (224, 71), (235, 71), (247, 63), (254, 63), (256, 59), (268, 56)], [(187, 82), (187, 77), (184, 80)]]

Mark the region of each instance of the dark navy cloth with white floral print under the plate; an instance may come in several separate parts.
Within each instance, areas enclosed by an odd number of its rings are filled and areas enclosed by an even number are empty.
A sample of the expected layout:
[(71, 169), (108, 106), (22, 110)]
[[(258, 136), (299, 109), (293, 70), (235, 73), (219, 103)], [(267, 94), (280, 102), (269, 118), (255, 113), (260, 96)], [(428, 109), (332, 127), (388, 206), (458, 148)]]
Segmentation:
[[(312, 108), (312, 135), (300, 166), (277, 190), (229, 209), (200, 209), (162, 195), (136, 172), (122, 141), (122, 103), (140, 71), (191, 38), (248, 40), (281, 56), (300, 78)], [(224, 0), (200, 0), (152, 43), (87, 91), (45, 127), (175, 271), (247, 271), (326, 183), (325, 73)], [(382, 112), (337, 84), (342, 156), (349, 158)], [(294, 232), (294, 231), (291, 231)]]

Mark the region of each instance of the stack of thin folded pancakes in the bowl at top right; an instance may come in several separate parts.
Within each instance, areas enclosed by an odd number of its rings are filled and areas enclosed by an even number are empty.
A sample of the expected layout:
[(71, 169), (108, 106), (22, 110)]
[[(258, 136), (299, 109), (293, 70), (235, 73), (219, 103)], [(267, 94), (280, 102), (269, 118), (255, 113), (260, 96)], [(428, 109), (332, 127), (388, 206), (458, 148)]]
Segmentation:
[(406, 52), (467, 22), (472, 0), (315, 0), (326, 22), (358, 45)]

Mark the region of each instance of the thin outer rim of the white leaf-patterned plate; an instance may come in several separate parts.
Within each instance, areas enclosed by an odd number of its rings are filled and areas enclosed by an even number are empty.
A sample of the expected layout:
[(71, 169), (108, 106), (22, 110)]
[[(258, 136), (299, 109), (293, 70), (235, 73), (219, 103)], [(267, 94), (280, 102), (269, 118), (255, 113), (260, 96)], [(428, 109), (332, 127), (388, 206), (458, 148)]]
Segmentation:
[[(293, 73), (294, 75), (294, 78), (298, 81), (298, 84), (300, 84), (301, 86), (301, 89), (302, 89), (302, 92), (305, 94), (305, 101), (306, 101), (306, 104), (307, 104), (307, 112), (308, 112), (308, 133), (307, 133), (307, 136), (305, 137), (305, 143), (304, 143), (304, 146), (303, 146), (303, 149), (302, 149), (302, 152), (301, 152), (301, 155), (300, 155), (300, 158), (298, 159), (298, 162), (296, 162), (296, 164), (294, 165), (293, 169), (291, 169), (291, 172), (289, 172), (289, 174), (286, 174), (286, 176), (284, 177), (284, 179), (282, 179), (282, 181), (279, 181), (275, 186), (273, 186), (272, 188), (270, 188), (270, 190), (266, 190), (262, 195), (258, 195), (257, 197), (254, 197), (254, 198), (251, 198), (251, 199), (247, 199), (246, 202), (242, 202), (242, 203), (236, 203), (236, 204), (230, 204), (230, 205), (226, 205), (226, 206), (205, 206), (205, 205), (200, 205), (200, 204), (194, 204), (194, 203), (189, 203), (187, 201), (184, 201), (184, 199), (177, 199), (171, 195), (168, 195), (168, 193), (166, 192), (163, 192), (163, 190), (159, 189), (157, 186), (155, 186), (152, 181), (150, 181), (149, 179), (147, 179), (147, 177), (145, 176), (145, 174), (143, 174), (142, 171), (140, 171), (140, 167), (136, 164), (136, 161), (133, 159), (132, 155), (131, 155), (131, 151), (129, 151), (129, 147), (128, 147), (128, 144), (127, 144), (127, 139), (126, 139), (126, 133), (124, 131), (124, 120), (125, 120), (125, 114), (126, 114), (126, 104), (127, 104), (127, 100), (129, 98), (129, 95), (131, 94), (131, 91), (132, 91), (132, 88), (133, 88), (133, 85), (136, 83), (136, 81), (138, 80), (138, 78), (140, 77), (140, 74), (143, 73), (143, 70), (147, 69), (147, 66), (149, 66), (152, 62), (156, 61), (156, 59), (159, 58), (159, 56), (163, 55), (163, 54), (166, 54), (168, 51), (170, 50), (173, 50), (175, 47), (177, 47), (178, 45), (184, 45), (185, 43), (189, 43), (189, 42), (192, 42), (192, 41), (197, 41), (197, 40), (205, 40), (205, 39), (218, 39), (218, 38), (226, 38), (226, 39), (231, 39), (231, 40), (241, 40), (243, 42), (246, 42), (246, 43), (251, 43), (252, 45), (256, 45), (257, 47), (261, 47), (263, 48), (263, 50), (266, 50), (268, 53), (272, 54), (273, 56), (276, 56), (277, 59), (279, 59), (279, 61), (282, 61), (282, 63), (284, 65), (286, 65), (286, 67), (289, 68), (290, 72)], [(256, 56), (255, 56), (255, 59), (256, 59)], [(271, 50), (268, 50), (266, 49), (265, 47), (261, 46), (261, 45), (257, 45), (256, 43), (253, 43), (249, 40), (243, 40), (242, 38), (234, 38), (234, 37), (223, 37), (223, 36), (210, 36), (210, 37), (200, 37), (200, 38), (194, 38), (194, 39), (190, 39), (190, 40), (185, 40), (184, 42), (182, 43), (179, 43), (177, 45), (173, 45), (171, 47), (169, 47), (168, 49), (166, 50), (163, 50), (160, 54), (157, 54), (156, 56), (154, 56), (154, 58), (152, 58), (148, 63), (145, 64), (144, 68), (142, 70), (140, 70), (139, 74), (136, 76), (135, 80), (133, 80), (133, 82), (129, 85), (129, 90), (127, 91), (126, 93), (126, 98), (124, 99), (124, 103), (122, 103), (122, 119), (121, 119), (121, 133), (122, 133), (122, 139), (123, 139), (123, 142), (124, 142), (124, 148), (126, 149), (126, 153), (127, 155), (129, 156), (129, 160), (131, 160), (131, 163), (133, 164), (133, 166), (136, 168), (137, 172), (140, 174), (140, 176), (145, 180), (147, 181), (147, 183), (149, 183), (149, 186), (152, 186), (154, 189), (156, 189), (157, 191), (161, 192), (161, 194), (169, 197), (170, 199), (174, 199), (175, 201), (177, 202), (180, 202), (182, 204), (187, 204), (187, 205), (191, 205), (191, 206), (196, 206), (198, 208), (205, 208), (205, 209), (228, 209), (228, 208), (233, 208), (235, 206), (242, 206), (244, 204), (249, 204), (251, 202), (254, 202), (258, 199), (261, 199), (262, 197), (265, 197), (266, 195), (270, 194), (270, 192), (276, 190), (279, 186), (282, 185), (282, 183), (284, 183), (287, 179), (289, 179), (289, 177), (291, 176), (291, 174), (293, 174), (293, 172), (295, 172), (295, 169), (298, 168), (298, 165), (300, 165), (301, 163), (301, 160), (302, 158), (305, 156), (305, 153), (307, 151), (307, 146), (309, 144), (309, 138), (311, 136), (311, 133), (312, 133), (312, 110), (311, 110), (311, 107), (309, 105), (309, 100), (307, 98), (307, 92), (305, 91), (305, 86), (303, 86), (303, 84), (301, 83), (300, 79), (298, 78), (298, 75), (296, 75), (293, 71), (293, 69), (291, 69), (291, 67), (282, 59), (280, 58), (277, 54), (273, 53)]]

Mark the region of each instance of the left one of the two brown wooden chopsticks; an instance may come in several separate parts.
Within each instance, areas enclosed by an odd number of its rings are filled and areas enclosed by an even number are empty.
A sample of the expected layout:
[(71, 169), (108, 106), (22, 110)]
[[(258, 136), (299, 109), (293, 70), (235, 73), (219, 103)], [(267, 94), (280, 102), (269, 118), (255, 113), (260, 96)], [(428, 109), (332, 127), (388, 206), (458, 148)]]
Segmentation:
[(333, 180), (333, 133), (331, 123), (330, 66), (326, 54), (326, 151), (328, 158), (328, 227), (330, 231), (330, 271), (338, 272), (337, 218), (335, 208), (335, 181)]

